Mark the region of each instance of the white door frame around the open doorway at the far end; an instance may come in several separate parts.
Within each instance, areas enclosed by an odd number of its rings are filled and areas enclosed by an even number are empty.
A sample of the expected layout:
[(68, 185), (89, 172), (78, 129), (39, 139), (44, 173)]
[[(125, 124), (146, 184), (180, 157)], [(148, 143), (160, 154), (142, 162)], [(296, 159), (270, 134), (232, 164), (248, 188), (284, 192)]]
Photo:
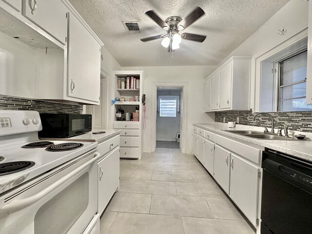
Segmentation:
[(152, 116), (151, 116), (151, 152), (156, 150), (156, 115), (157, 115), (157, 87), (181, 88), (181, 119), (180, 119), (180, 150), (186, 153), (186, 132), (187, 132), (187, 89), (188, 82), (152, 82)]

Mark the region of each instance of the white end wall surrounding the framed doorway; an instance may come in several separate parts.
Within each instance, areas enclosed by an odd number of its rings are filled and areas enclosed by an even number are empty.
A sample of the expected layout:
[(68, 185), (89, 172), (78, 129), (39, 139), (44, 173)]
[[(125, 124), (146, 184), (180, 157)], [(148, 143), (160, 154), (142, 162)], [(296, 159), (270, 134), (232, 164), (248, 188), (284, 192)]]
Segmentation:
[[(203, 111), (204, 78), (209, 76), (216, 66), (161, 66), (161, 67), (121, 67), (121, 70), (144, 71), (144, 93), (146, 94), (146, 129), (144, 132), (144, 152), (152, 151), (151, 144), (151, 95), (152, 83), (188, 82), (186, 136), (192, 136), (193, 123), (213, 123), (215, 114)], [(186, 152), (191, 153), (191, 141), (186, 141)]]

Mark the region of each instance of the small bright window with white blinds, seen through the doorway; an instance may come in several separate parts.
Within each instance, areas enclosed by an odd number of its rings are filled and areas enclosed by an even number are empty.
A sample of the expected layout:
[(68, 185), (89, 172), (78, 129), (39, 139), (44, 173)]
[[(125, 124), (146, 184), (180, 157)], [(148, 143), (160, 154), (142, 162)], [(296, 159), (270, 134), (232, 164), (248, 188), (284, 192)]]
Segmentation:
[(176, 117), (179, 96), (158, 96), (159, 116)]

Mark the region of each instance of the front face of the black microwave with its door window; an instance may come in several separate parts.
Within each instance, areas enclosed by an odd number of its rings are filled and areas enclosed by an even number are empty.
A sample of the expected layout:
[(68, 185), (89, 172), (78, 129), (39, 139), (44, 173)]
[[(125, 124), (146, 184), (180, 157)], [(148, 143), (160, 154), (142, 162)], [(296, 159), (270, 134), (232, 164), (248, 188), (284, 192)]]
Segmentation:
[(68, 137), (90, 132), (92, 129), (91, 115), (68, 115)]

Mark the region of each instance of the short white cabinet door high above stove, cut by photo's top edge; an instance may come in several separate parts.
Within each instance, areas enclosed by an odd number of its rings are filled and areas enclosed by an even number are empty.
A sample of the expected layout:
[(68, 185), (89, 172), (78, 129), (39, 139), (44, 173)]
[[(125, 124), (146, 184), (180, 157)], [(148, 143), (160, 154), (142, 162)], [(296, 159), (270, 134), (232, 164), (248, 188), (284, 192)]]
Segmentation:
[(67, 12), (60, 0), (24, 0), (23, 15), (63, 44), (67, 36)]

